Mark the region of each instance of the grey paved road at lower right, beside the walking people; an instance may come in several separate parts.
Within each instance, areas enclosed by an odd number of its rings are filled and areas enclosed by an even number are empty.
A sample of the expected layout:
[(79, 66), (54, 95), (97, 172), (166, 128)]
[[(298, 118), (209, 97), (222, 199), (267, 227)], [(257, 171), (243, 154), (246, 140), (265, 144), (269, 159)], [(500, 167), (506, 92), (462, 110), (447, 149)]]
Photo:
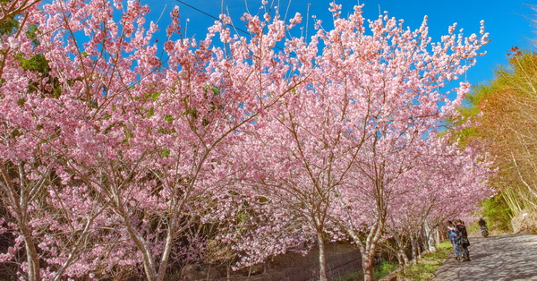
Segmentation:
[(471, 261), (452, 254), (432, 280), (537, 280), (537, 235), (470, 237)]

